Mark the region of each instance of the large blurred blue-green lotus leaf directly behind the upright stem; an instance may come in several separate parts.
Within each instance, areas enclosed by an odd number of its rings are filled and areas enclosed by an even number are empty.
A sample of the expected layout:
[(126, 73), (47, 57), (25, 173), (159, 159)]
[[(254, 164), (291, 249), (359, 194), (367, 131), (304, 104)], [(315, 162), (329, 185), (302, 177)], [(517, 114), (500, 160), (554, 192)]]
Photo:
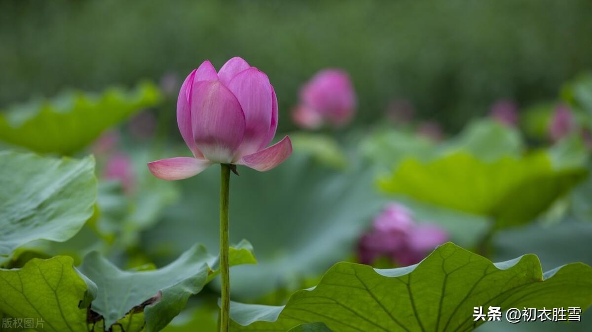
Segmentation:
[[(298, 150), (268, 172), (239, 167), (239, 173), (230, 179), (230, 240), (249, 238), (258, 265), (233, 269), (235, 298), (259, 298), (300, 285), (301, 278), (316, 277), (346, 259), (384, 204), (371, 170), (332, 170)], [(218, 250), (220, 166), (181, 184), (180, 204), (144, 234), (144, 250), (153, 257), (175, 256), (194, 241)]]

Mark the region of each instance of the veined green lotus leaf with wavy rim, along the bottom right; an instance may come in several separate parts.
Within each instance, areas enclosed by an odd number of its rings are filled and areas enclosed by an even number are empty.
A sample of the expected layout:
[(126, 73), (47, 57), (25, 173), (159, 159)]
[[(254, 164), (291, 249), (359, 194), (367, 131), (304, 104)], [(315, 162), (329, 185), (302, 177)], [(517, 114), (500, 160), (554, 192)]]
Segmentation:
[(335, 332), (471, 331), (473, 307), (581, 307), (592, 304), (592, 267), (572, 263), (543, 273), (533, 254), (491, 263), (452, 243), (418, 265), (375, 270), (338, 263), (314, 289), (283, 307), (233, 304), (233, 331), (286, 331), (323, 322)]

